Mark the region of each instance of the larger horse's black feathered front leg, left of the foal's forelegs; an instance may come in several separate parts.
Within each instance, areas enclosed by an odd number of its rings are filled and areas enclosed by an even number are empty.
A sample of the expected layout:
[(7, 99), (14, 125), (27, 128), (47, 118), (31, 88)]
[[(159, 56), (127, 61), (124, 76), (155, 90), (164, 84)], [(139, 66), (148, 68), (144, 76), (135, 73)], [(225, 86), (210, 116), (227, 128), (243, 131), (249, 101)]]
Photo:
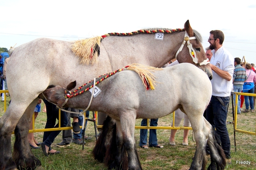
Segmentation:
[[(100, 162), (106, 162), (107, 160), (113, 161), (115, 153), (110, 152), (112, 154), (112, 156), (110, 156), (108, 151), (113, 142), (116, 142), (116, 121), (107, 116), (103, 123), (102, 133), (96, 141), (92, 151), (94, 159)], [(106, 154), (106, 152), (108, 152), (108, 154)]]

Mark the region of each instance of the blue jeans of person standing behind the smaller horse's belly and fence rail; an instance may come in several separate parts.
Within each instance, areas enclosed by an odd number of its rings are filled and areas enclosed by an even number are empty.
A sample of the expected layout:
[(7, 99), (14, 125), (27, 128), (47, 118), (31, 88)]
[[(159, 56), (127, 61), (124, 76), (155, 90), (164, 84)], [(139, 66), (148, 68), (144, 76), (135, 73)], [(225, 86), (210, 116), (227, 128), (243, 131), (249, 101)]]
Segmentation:
[[(157, 119), (150, 119), (150, 126), (157, 126)], [(147, 119), (142, 119), (141, 126), (147, 126)], [(140, 146), (147, 145), (148, 129), (140, 129)], [(157, 146), (157, 130), (149, 129), (149, 147)]]

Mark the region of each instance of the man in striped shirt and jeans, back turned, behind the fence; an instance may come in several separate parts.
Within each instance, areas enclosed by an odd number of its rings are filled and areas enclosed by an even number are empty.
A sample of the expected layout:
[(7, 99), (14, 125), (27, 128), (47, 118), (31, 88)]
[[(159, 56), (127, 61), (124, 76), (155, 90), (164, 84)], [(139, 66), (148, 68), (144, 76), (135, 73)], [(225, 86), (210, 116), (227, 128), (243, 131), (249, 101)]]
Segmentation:
[[(245, 69), (240, 65), (241, 59), (239, 57), (236, 57), (234, 59), (234, 73), (233, 73), (233, 89), (234, 92), (241, 92), (243, 90), (244, 81), (247, 80), (247, 75)], [(236, 104), (236, 94), (234, 94), (234, 104)], [(235, 105), (237, 106), (237, 113), (240, 114), (240, 95), (238, 95), (238, 103)]]

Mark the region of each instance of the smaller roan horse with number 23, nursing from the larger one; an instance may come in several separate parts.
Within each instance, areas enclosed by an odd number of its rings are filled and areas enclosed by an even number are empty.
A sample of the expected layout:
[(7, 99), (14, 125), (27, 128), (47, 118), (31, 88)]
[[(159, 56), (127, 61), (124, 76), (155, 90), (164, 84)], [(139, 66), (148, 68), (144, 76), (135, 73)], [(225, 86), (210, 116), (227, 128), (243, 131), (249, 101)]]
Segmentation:
[[(111, 136), (112, 144), (107, 148), (105, 164), (109, 169), (141, 170), (134, 140), (135, 119), (155, 119), (180, 108), (188, 116), (195, 134), (196, 152), (190, 170), (205, 168), (206, 143), (211, 150), (211, 169), (224, 169), (224, 151), (215, 140), (212, 126), (203, 116), (212, 95), (207, 75), (189, 63), (151, 73), (156, 77), (155, 90), (145, 91), (140, 76), (129, 70), (116, 73), (102, 82), (98, 81), (97, 89), (101, 92), (92, 99), (89, 110), (104, 111), (116, 120), (116, 135)], [(90, 85), (88, 83), (83, 88)], [(79, 95), (84, 89), (77, 89), (77, 95), (70, 97), (70, 90), (75, 87), (76, 82), (72, 82), (67, 88), (55, 86), (43, 94), (49, 102), (59, 107), (87, 108), (91, 94), (85, 92)]]

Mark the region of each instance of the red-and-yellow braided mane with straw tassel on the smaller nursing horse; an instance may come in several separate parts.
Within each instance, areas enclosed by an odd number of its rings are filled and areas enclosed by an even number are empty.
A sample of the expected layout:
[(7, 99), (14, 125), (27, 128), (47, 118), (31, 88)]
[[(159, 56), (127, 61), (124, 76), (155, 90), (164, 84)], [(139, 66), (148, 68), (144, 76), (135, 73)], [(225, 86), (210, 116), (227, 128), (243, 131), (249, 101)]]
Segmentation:
[[(125, 66), (122, 69), (118, 69), (111, 73), (104, 74), (102, 76), (97, 77), (95, 85), (99, 84), (99, 82), (102, 82), (104, 79), (107, 79), (108, 77), (116, 74), (117, 72), (123, 71), (125, 69), (135, 71), (137, 74), (139, 74), (140, 78), (142, 79), (145, 88), (147, 90), (149, 90), (149, 89), (154, 90), (155, 79), (154, 79), (154, 75), (151, 74), (150, 71), (162, 70), (163, 68), (154, 68), (154, 67), (147, 66), (147, 65), (131, 64), (131, 65)], [(72, 98), (79, 94), (82, 94), (85, 91), (88, 91), (90, 88), (93, 88), (93, 83), (94, 83), (94, 81), (91, 80), (90, 82), (87, 82), (84, 85), (81, 85), (78, 89), (76, 89), (75, 91), (72, 91), (72, 92), (66, 90), (65, 97)]]

